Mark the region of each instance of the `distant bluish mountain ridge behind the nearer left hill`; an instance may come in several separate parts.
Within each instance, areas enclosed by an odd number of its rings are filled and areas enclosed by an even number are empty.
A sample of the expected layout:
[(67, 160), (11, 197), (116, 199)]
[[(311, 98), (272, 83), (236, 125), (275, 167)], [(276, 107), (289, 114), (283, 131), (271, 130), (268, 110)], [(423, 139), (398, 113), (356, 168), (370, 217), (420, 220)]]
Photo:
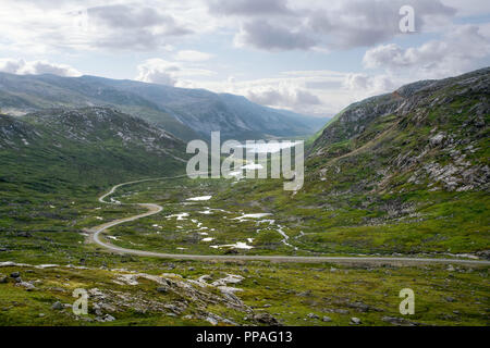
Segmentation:
[(261, 107), (244, 97), (95, 76), (0, 73), (0, 108), (22, 114), (47, 108), (109, 105), (189, 140), (221, 130), (230, 139), (296, 137), (317, 132), (324, 119)]

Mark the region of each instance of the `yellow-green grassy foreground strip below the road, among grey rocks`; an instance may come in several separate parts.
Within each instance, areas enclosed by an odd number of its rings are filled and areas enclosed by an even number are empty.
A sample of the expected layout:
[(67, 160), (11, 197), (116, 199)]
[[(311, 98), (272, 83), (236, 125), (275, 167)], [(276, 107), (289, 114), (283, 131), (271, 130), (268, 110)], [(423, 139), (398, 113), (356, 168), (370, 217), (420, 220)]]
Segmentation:
[[(121, 264), (117, 257), (111, 259), (110, 264)], [(449, 271), (442, 266), (240, 264), (150, 259), (132, 260), (123, 265), (138, 272), (145, 270), (149, 274), (179, 274), (183, 279), (197, 279), (201, 275), (210, 275), (211, 278), (226, 274), (243, 275), (245, 279), (235, 285), (243, 290), (237, 296), (255, 313), (270, 313), (285, 325), (350, 325), (353, 316), (359, 318), (363, 325), (391, 325), (387, 316), (422, 325), (489, 324), (488, 269), (456, 268)], [(16, 271), (21, 272), (23, 281), (33, 281), (37, 289), (26, 291), (15, 286), (12, 279), (0, 284), (2, 325), (209, 325), (195, 318), (196, 309), (192, 302), (176, 316), (169, 316), (160, 310), (135, 311), (134, 308), (144, 300), (171, 303), (180, 298), (175, 294), (158, 293), (157, 285), (151, 282), (140, 282), (136, 286), (118, 285), (113, 281), (120, 271), (38, 270), (29, 266), (0, 269), (3, 274)], [(399, 312), (399, 293), (407, 287), (415, 291), (416, 312), (403, 316)], [(75, 288), (125, 294), (133, 299), (133, 308), (106, 311), (117, 319), (109, 323), (94, 321), (96, 315), (93, 309), (88, 316), (81, 319), (70, 308), (61, 311), (51, 308), (57, 301), (73, 303), (75, 299), (71, 294)], [(232, 310), (222, 303), (211, 303), (206, 310), (240, 324), (254, 323), (250, 313)], [(40, 316), (40, 313), (44, 315)], [(323, 321), (323, 316), (329, 316), (331, 321)]]

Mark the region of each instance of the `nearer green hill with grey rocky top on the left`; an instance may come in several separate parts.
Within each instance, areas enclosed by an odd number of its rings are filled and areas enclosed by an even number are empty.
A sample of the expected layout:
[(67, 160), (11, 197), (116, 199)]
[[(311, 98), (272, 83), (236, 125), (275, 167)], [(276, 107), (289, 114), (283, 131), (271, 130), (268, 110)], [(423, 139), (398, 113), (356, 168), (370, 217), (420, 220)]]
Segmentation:
[(0, 190), (54, 192), (182, 171), (185, 144), (108, 108), (0, 115)]

